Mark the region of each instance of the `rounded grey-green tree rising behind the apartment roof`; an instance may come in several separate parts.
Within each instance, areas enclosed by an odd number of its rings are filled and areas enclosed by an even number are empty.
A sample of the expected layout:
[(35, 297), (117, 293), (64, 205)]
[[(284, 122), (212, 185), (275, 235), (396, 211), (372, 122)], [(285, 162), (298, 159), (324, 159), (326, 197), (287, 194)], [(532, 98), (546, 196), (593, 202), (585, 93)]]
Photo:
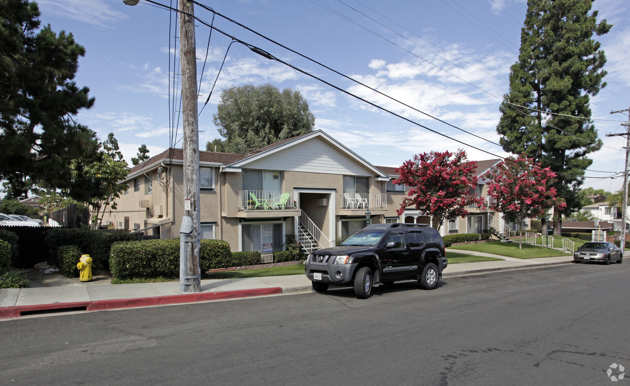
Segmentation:
[(299, 91), (270, 84), (233, 86), (221, 92), (214, 124), (229, 153), (248, 153), (312, 131), (315, 116)]

